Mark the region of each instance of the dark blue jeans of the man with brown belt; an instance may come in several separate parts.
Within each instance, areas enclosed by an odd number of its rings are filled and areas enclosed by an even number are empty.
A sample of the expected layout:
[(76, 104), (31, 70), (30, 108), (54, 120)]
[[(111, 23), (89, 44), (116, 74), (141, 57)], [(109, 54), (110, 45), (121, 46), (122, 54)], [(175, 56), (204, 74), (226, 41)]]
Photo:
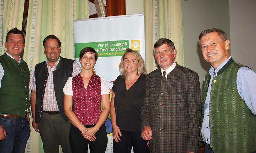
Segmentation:
[(0, 117), (7, 137), (0, 141), (0, 153), (24, 153), (30, 135), (29, 122), (25, 118)]

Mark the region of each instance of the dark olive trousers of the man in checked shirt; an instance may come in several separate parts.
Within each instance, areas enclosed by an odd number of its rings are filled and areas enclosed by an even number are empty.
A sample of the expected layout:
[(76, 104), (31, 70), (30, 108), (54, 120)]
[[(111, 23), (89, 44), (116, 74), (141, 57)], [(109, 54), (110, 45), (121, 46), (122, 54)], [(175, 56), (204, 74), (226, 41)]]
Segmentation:
[(69, 145), (70, 122), (65, 122), (60, 114), (42, 113), (38, 129), (42, 138), (45, 153), (59, 153), (61, 145), (63, 153), (71, 153)]

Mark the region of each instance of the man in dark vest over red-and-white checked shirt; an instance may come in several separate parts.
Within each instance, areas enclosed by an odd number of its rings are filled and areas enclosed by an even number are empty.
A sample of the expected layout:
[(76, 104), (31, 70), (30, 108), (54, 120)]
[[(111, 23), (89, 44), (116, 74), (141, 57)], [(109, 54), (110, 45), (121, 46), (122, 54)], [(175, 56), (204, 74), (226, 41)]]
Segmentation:
[(58, 153), (59, 145), (63, 153), (70, 153), (70, 122), (64, 114), (63, 87), (81, 69), (75, 60), (60, 57), (61, 42), (56, 36), (47, 36), (43, 45), (47, 60), (35, 66), (29, 83), (32, 125), (40, 133), (45, 153)]

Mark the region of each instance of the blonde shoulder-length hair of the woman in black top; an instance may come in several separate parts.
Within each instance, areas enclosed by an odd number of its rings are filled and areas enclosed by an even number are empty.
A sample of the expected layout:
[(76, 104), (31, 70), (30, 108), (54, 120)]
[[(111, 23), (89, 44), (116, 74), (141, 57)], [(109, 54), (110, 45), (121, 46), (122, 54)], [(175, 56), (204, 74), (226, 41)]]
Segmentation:
[(125, 77), (125, 70), (124, 70), (124, 56), (125, 54), (127, 54), (128, 52), (132, 52), (133, 55), (138, 59), (138, 70), (137, 70), (137, 74), (141, 75), (141, 74), (147, 74), (147, 70), (145, 67), (145, 63), (144, 60), (142, 58), (142, 56), (139, 54), (138, 51), (132, 50), (130, 48), (127, 48), (124, 55), (122, 56), (121, 62), (119, 64), (119, 71), (121, 73), (121, 75), (123, 75)]

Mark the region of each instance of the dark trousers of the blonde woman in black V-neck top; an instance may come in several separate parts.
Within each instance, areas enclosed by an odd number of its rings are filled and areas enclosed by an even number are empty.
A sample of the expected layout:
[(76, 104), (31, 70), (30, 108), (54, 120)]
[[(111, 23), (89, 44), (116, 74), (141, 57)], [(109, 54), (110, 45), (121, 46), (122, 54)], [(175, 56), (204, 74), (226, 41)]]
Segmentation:
[(114, 153), (131, 153), (133, 148), (134, 153), (149, 153), (147, 141), (143, 141), (140, 136), (141, 131), (127, 132), (121, 130), (122, 136), (119, 136), (121, 141), (113, 140)]

